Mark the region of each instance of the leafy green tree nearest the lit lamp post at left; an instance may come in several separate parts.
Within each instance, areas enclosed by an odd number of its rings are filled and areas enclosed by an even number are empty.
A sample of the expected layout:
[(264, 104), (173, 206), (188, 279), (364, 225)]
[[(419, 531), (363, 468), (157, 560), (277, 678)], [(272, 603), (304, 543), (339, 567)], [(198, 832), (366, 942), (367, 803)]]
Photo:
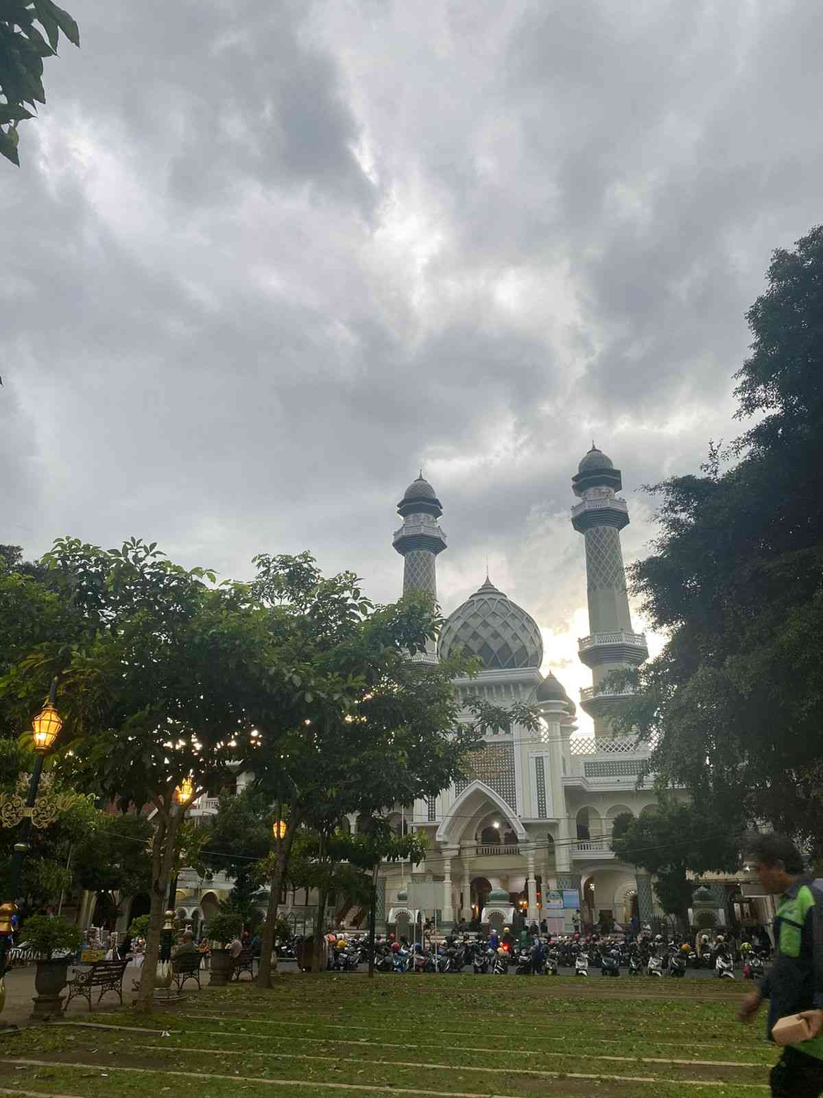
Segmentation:
[(57, 675), (61, 778), (123, 807), (156, 809), (148, 971), (139, 991), (148, 1008), (185, 807), (176, 791), (191, 799), (244, 753), (256, 693), (277, 705), (269, 696), (283, 679), (269, 651), (269, 615), (244, 585), (213, 590), (205, 582), (212, 573), (172, 564), (137, 539), (108, 551), (58, 539), (44, 563), (74, 631), (25, 654), (21, 646), (0, 697), (26, 727), (44, 684)]

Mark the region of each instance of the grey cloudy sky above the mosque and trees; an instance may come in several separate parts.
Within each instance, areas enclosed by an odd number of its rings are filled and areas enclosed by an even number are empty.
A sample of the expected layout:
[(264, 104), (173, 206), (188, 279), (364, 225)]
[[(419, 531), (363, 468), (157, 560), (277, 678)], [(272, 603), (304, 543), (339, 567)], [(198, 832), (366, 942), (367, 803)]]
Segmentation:
[[(823, 220), (808, 0), (65, 0), (82, 48), (0, 165), (0, 540), (131, 535), (249, 574), (311, 549), (399, 592), (443, 502), (570, 691), (570, 478), (733, 437), (744, 312)], [(586, 727), (585, 719), (582, 727)]]

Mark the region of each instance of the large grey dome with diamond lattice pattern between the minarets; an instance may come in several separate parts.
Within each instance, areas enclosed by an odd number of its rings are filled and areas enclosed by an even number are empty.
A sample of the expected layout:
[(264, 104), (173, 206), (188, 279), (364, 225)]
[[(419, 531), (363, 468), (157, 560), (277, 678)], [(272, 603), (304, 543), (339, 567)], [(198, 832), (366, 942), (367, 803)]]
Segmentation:
[(487, 579), (449, 617), (438, 650), (446, 659), (452, 648), (480, 658), (484, 671), (539, 668), (543, 639), (537, 621)]

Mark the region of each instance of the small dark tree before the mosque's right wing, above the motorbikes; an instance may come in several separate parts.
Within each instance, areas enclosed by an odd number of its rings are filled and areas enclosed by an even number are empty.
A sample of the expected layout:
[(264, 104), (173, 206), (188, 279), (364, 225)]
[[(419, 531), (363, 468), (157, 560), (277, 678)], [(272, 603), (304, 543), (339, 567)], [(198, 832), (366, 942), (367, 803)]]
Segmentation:
[(731, 873), (740, 867), (740, 839), (730, 834), (717, 817), (707, 819), (683, 800), (658, 794), (655, 808), (634, 817), (616, 817), (611, 849), (633, 865), (654, 874), (654, 890), (661, 907), (674, 915), (688, 931), (688, 908), (697, 887), (688, 873)]

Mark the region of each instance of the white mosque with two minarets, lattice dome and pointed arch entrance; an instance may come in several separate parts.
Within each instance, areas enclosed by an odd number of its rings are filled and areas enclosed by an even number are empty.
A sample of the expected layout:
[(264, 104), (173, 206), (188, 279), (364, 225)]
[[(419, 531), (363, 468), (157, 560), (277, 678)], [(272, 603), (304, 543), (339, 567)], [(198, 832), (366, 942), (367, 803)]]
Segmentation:
[[(432, 642), (417, 657), (436, 661), (458, 647), (477, 657), (477, 677), (455, 681), (460, 699), (537, 705), (542, 727), (534, 732), (512, 725), (485, 736), (465, 778), (416, 802), (408, 816), (402, 813), (402, 826), (426, 831), (429, 852), (414, 872), (386, 867), (386, 923), (398, 932), (422, 916), (443, 928), (461, 920), (503, 925), (522, 916), (545, 920), (555, 933), (580, 922), (652, 918), (649, 875), (610, 849), (615, 818), (655, 803), (649, 786), (635, 788), (647, 749), (612, 736), (609, 727), (624, 695), (607, 676), (649, 654), (629, 610), (620, 546), (629, 513), (617, 495), (621, 486), (620, 470), (593, 445), (572, 478), (579, 501), (572, 525), (586, 552), (589, 635), (580, 638), (578, 654), (593, 674), (580, 706), (593, 718), (594, 739), (575, 735), (575, 703), (551, 672), (541, 674), (537, 623), (488, 578), (449, 616), (437, 648)], [(404, 594), (425, 591), (437, 601), (437, 558), (447, 546), (442, 504), (420, 475), (397, 511), (403, 525), (394, 548), (404, 558)], [(467, 710), (462, 719), (471, 719)]]

